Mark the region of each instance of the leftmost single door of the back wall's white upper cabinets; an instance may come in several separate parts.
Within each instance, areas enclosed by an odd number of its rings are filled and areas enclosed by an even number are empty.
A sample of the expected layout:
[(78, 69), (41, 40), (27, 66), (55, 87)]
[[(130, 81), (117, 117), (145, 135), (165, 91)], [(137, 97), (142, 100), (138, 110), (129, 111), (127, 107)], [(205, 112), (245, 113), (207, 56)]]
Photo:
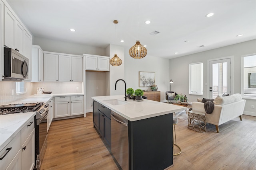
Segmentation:
[(58, 55), (44, 54), (44, 81), (58, 81)]

